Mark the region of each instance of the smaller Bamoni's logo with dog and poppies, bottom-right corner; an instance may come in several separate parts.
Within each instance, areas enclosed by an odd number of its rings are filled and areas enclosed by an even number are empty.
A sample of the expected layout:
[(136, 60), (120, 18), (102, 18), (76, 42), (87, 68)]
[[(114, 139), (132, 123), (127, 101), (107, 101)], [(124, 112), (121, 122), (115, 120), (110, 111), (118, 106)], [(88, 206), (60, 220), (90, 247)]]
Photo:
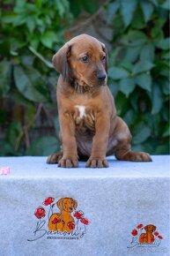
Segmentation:
[(163, 237), (159, 234), (157, 227), (149, 224), (144, 226), (138, 224), (137, 227), (131, 231), (132, 240), (128, 248), (133, 247), (158, 247), (161, 244)]

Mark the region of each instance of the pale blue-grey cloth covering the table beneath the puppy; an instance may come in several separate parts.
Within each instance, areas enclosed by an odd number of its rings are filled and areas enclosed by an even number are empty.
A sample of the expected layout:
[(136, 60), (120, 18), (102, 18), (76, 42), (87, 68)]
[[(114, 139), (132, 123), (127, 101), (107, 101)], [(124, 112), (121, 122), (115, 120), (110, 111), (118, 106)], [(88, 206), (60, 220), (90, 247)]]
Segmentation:
[[(78, 169), (63, 169), (46, 164), (45, 157), (1, 157), (0, 168), (9, 166), (11, 172), (0, 175), (0, 255), (170, 255), (169, 156), (152, 159), (122, 162), (107, 157), (106, 169), (86, 169), (85, 162)], [(43, 205), (50, 197), (53, 202)], [(61, 212), (56, 202), (63, 198), (78, 202), (70, 213), (75, 228), (71, 233), (49, 232), (48, 218), (52, 211)], [(41, 219), (34, 215), (38, 207), (46, 211)], [(75, 212), (83, 217), (78, 220)], [(156, 227), (159, 234), (154, 230), (152, 244), (138, 243), (146, 233), (138, 224)]]

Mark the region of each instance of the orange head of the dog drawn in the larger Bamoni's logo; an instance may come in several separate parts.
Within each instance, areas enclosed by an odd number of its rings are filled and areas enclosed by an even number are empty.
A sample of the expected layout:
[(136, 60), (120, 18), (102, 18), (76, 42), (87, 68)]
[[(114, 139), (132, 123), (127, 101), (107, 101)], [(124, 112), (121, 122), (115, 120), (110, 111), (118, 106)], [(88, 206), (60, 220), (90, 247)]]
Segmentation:
[(63, 198), (57, 201), (57, 207), (62, 211), (72, 213), (72, 211), (78, 207), (77, 200), (73, 200), (71, 198)]

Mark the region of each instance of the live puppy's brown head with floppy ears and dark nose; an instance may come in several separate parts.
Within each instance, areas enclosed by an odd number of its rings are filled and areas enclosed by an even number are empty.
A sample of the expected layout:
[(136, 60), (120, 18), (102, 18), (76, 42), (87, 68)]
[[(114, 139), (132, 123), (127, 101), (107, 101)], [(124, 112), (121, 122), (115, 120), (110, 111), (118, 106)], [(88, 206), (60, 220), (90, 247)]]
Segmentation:
[(79, 86), (107, 84), (107, 49), (90, 35), (80, 34), (68, 41), (53, 56), (53, 64), (63, 79), (75, 79)]

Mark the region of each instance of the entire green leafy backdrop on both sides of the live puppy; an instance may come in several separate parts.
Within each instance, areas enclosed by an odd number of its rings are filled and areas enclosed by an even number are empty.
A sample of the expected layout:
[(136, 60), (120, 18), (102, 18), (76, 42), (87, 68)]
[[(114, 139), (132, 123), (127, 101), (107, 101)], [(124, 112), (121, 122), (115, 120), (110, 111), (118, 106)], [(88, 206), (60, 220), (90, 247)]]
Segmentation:
[[(46, 155), (59, 149), (58, 119), (50, 114), (57, 79), (51, 59), (70, 39), (68, 28), (79, 13), (96, 13), (101, 7), (97, 3), (4, 0), (1, 4), (0, 129), (5, 140), (0, 142), (0, 155)], [(107, 24), (113, 26), (108, 85), (118, 115), (129, 124), (134, 149), (167, 154), (168, 1), (115, 0), (103, 8)], [(52, 132), (33, 137), (42, 114)]]

